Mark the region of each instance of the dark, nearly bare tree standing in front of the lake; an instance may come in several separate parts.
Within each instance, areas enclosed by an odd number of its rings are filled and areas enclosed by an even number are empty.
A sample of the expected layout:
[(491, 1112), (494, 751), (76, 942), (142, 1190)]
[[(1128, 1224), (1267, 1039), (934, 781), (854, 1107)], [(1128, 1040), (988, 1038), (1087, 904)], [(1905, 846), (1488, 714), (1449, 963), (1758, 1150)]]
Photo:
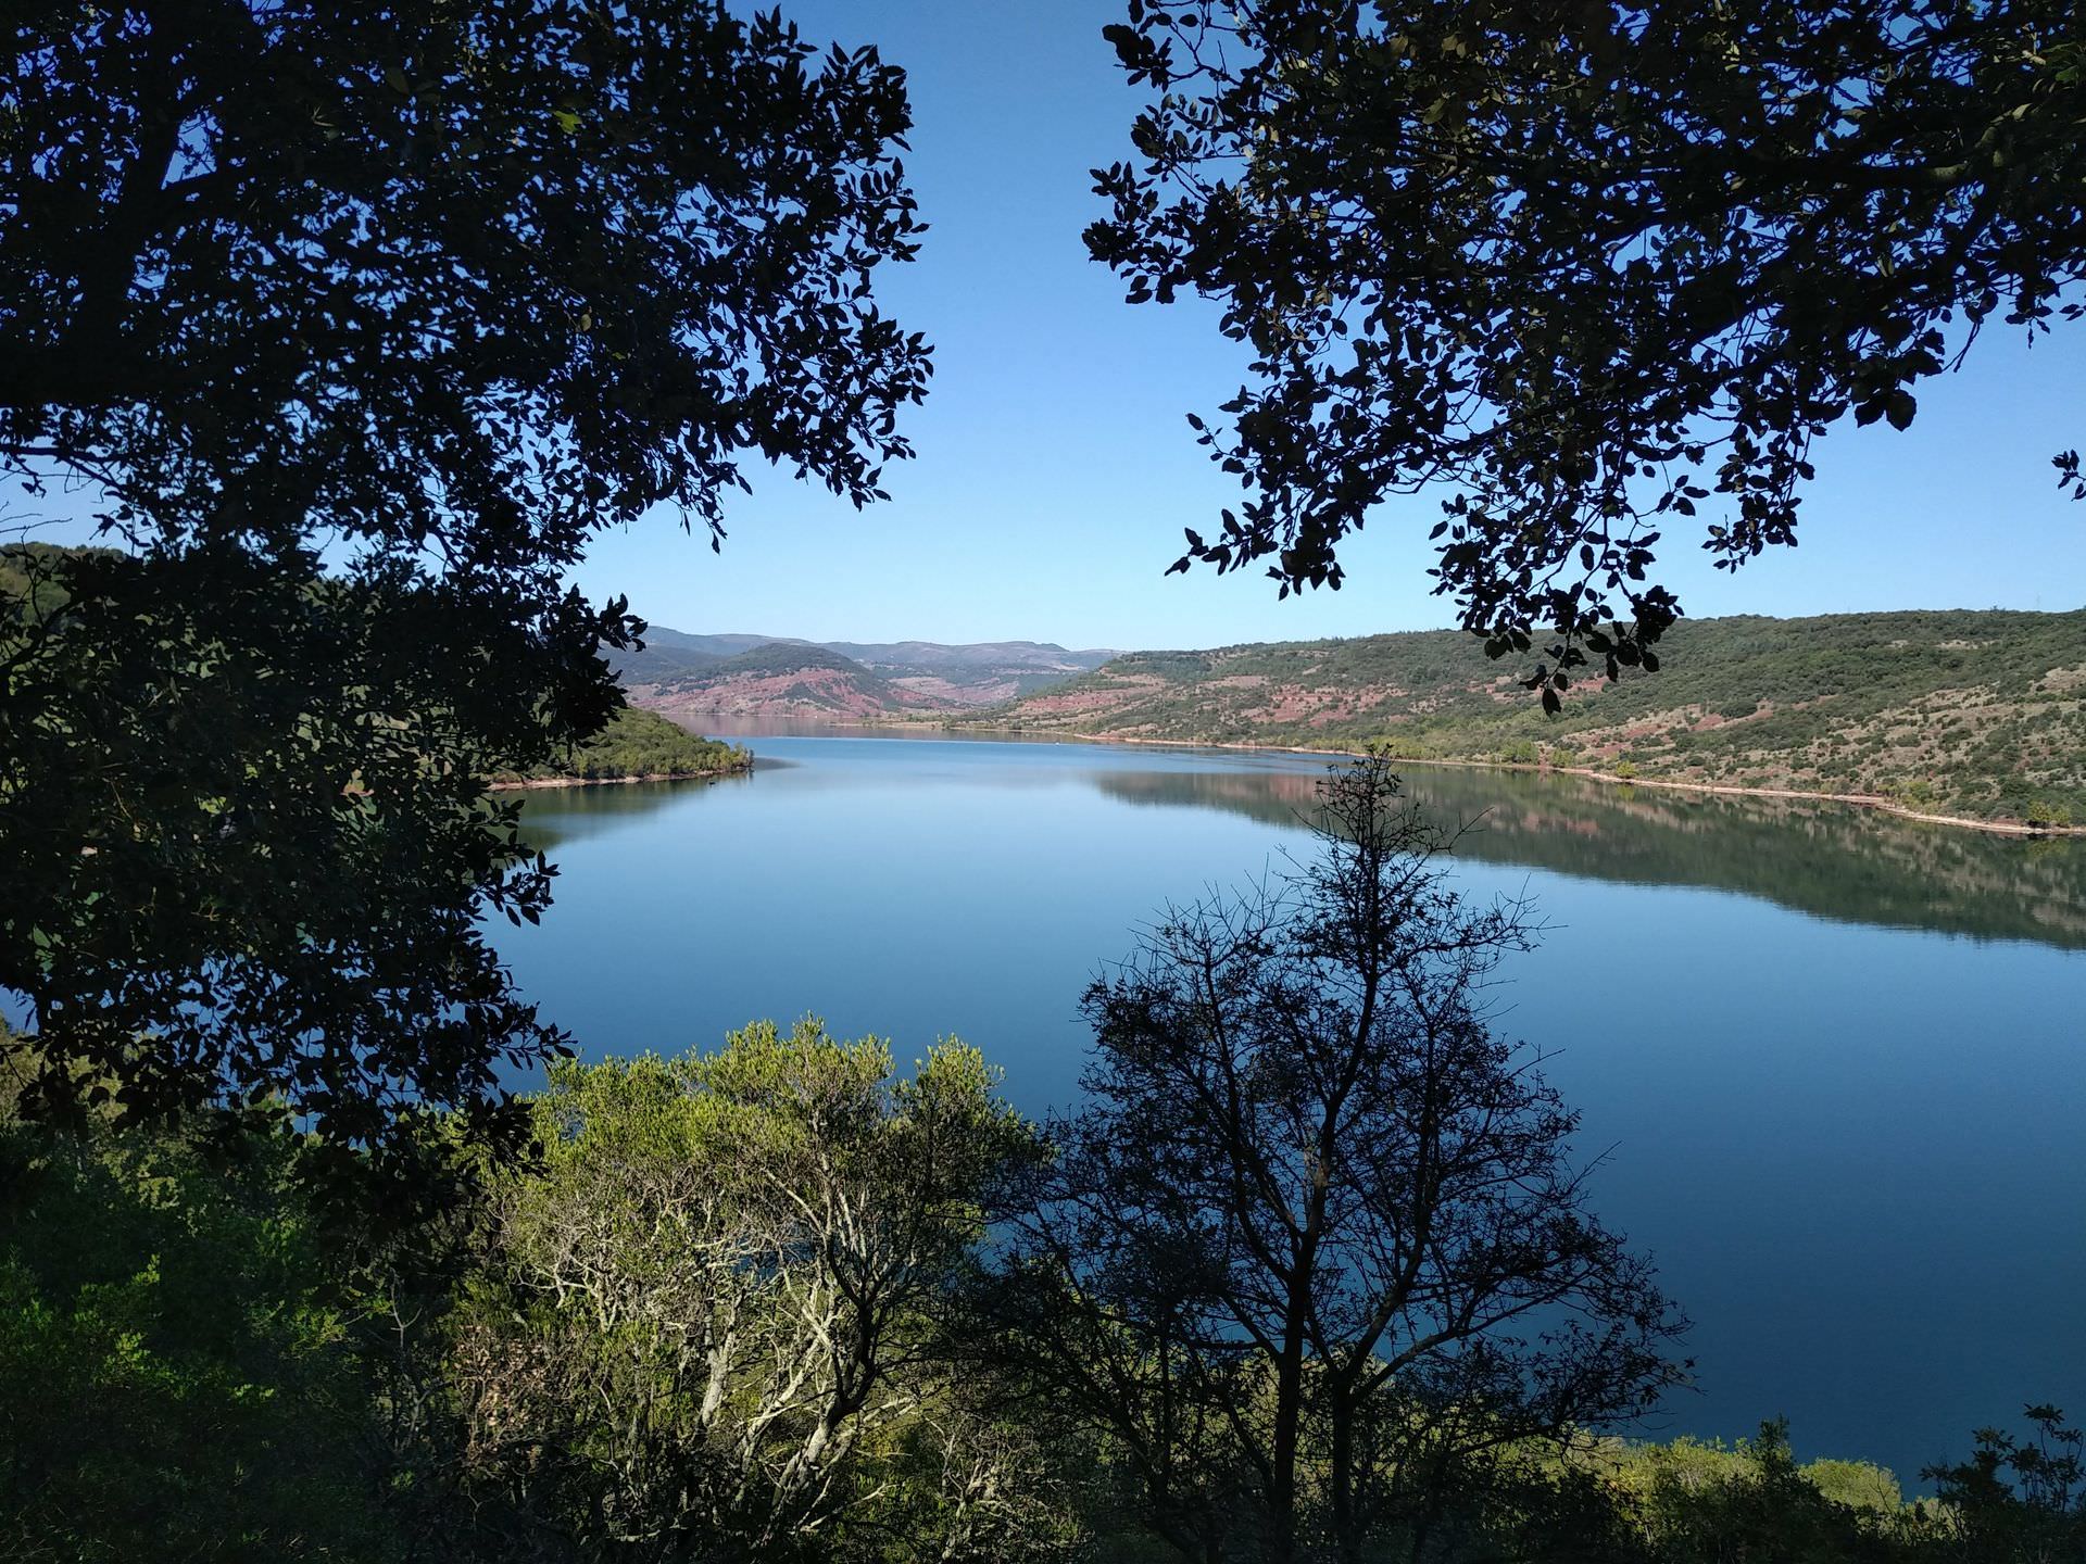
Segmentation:
[(1170, 909), (1089, 988), (1091, 1101), (1010, 1239), (1010, 1341), (1189, 1558), (1364, 1558), (1483, 1451), (1675, 1378), (1575, 1116), (1485, 1024), (1527, 909), (1466, 907), (1396, 799), (1337, 769), (1310, 865)]

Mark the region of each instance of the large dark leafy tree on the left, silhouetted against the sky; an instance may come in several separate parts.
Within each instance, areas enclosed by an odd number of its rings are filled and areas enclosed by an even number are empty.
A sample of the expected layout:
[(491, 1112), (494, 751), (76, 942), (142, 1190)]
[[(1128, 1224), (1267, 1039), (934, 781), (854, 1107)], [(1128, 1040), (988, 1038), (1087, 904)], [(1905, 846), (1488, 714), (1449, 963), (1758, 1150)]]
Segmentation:
[(903, 77), (715, 0), (13, 38), (0, 471), (119, 544), (8, 561), (25, 1103), (486, 1116), (561, 1036), (478, 932), (551, 886), (480, 778), (601, 732), (642, 630), (563, 571), (661, 503), (715, 542), (749, 461), (864, 505), (907, 455), (926, 346), (870, 296), (916, 248)]

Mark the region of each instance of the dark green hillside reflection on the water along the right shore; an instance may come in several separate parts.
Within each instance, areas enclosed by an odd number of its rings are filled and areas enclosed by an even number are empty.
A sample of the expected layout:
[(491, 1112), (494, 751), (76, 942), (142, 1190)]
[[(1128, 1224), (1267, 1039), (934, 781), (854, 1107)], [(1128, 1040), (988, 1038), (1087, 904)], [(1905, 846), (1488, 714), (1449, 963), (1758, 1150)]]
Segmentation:
[[(1631, 884), (1738, 890), (1817, 918), (2086, 949), (2086, 853), (1848, 805), (1617, 788), (1583, 778), (1414, 765), (1437, 824), (1473, 820), (1464, 857)], [(1295, 824), (1310, 774), (1101, 772), (1124, 803)]]

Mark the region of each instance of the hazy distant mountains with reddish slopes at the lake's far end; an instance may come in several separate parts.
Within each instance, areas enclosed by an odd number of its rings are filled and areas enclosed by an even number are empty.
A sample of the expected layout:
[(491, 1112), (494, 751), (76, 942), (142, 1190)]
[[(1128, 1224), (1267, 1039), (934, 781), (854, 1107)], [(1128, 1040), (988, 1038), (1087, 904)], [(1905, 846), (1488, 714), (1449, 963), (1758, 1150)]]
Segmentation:
[(703, 715), (945, 715), (1016, 701), (1106, 663), (1112, 651), (1037, 640), (805, 640), (690, 634), (653, 626), (617, 676), (630, 701), (680, 719)]

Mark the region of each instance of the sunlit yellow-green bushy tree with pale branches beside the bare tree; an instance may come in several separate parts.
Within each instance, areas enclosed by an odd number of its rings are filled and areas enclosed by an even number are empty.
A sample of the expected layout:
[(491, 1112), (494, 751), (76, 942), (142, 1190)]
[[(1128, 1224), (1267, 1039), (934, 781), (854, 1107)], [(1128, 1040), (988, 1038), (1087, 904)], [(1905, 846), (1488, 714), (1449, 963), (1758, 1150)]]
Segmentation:
[(553, 1066), (453, 1353), (480, 1493), (634, 1558), (1022, 1554), (1035, 1451), (937, 1324), (1033, 1147), (993, 1086), (818, 1022)]

